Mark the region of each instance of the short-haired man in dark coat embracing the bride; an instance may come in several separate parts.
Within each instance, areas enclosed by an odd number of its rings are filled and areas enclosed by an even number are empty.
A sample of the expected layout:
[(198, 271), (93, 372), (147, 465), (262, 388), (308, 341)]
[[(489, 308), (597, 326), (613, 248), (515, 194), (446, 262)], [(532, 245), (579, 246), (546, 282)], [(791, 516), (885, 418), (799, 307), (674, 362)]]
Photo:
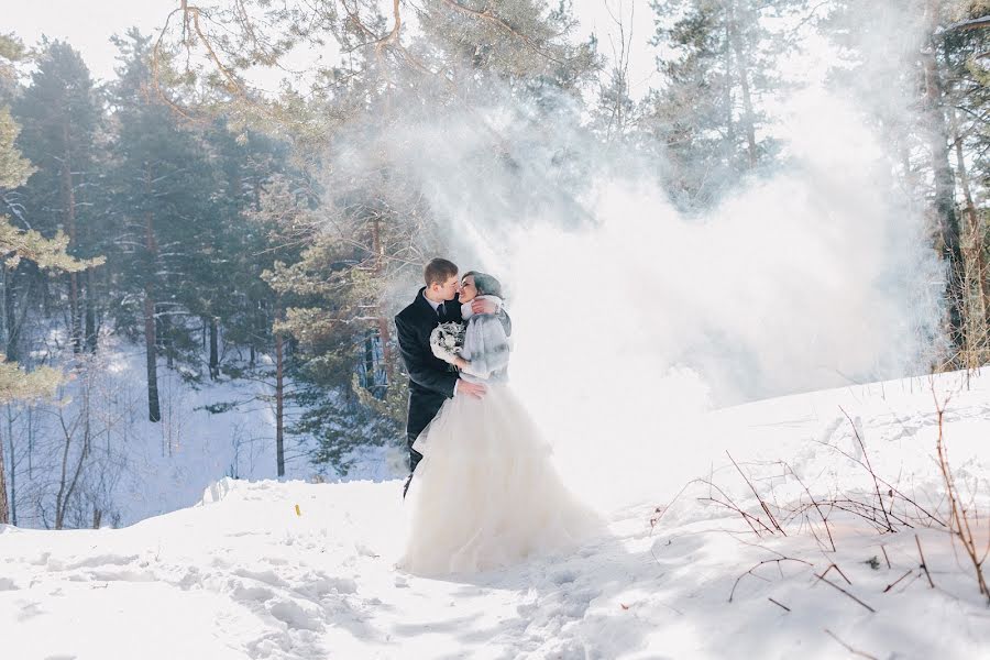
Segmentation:
[[(458, 267), (446, 258), (435, 258), (422, 272), (426, 286), (419, 289), (416, 299), (395, 317), (398, 331), (399, 353), (409, 372), (409, 413), (406, 418), (406, 442), (409, 444), (409, 479), (403, 488), (403, 497), (409, 490), (413, 472), (422, 454), (413, 449), (416, 438), (427, 427), (443, 402), (454, 396), (483, 397), (485, 386), (458, 377), (458, 372), (433, 355), (430, 349), (430, 333), (440, 323), (462, 323), (461, 305), (457, 300), (461, 288)], [(498, 311), (492, 300), (472, 302), (474, 314)], [(506, 334), (512, 332), (508, 315), (499, 312)]]

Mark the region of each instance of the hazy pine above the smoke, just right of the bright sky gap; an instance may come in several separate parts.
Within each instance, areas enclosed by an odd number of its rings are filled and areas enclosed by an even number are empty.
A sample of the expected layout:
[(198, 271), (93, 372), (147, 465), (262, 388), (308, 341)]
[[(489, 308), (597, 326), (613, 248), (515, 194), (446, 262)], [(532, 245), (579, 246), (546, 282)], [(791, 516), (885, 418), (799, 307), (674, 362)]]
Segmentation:
[(673, 161), (672, 194), (684, 207), (704, 207), (777, 152), (762, 134), (762, 97), (782, 85), (778, 58), (793, 46), (768, 19), (800, 0), (654, 0), (653, 45), (666, 86), (647, 100), (653, 139)]

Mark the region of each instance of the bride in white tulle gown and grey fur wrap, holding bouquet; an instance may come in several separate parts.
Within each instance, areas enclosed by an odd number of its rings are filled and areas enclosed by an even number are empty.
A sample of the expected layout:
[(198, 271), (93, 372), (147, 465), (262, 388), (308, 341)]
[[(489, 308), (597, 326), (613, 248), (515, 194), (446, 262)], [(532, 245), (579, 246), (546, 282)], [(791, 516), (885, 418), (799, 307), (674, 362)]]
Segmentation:
[(457, 353), (435, 330), (438, 358), (461, 377), (484, 383), (482, 398), (448, 399), (413, 448), (424, 455), (409, 487), (409, 534), (399, 568), (422, 575), (469, 573), (535, 553), (564, 550), (591, 534), (596, 516), (568, 492), (550, 462), (550, 447), (507, 383), (510, 344), (494, 315), (471, 301), (502, 305), (498, 280), (471, 272), (459, 301), (468, 323)]

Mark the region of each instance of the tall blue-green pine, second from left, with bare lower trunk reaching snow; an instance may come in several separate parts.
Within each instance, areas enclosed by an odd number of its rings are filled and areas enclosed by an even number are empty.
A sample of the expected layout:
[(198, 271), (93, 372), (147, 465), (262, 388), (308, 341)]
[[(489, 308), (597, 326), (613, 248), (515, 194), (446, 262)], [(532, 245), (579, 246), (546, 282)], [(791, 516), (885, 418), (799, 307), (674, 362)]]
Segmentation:
[(116, 317), (121, 330), (143, 334), (148, 419), (160, 421), (160, 352), (168, 365), (197, 361), (189, 308), (200, 285), (208, 286), (205, 246), (218, 221), (213, 172), (206, 150), (155, 94), (150, 37), (131, 31), (118, 47), (111, 173), (119, 232)]

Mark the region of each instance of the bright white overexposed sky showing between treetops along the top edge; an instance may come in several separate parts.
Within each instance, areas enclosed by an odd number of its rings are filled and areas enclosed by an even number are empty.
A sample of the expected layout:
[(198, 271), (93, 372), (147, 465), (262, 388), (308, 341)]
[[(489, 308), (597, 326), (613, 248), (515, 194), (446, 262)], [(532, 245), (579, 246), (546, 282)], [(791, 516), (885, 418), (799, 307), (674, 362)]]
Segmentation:
[[(211, 0), (213, 3), (216, 0)], [(13, 4), (13, 0), (4, 3)], [(4, 32), (13, 32), (28, 44), (42, 35), (62, 38), (82, 53), (94, 77), (113, 77), (117, 48), (110, 36), (122, 34), (131, 26), (151, 33), (160, 29), (165, 18), (179, 6), (178, 0), (34, 0), (18, 2), (3, 12)], [(619, 46), (618, 28), (613, 15), (624, 16), (628, 31), (632, 15), (632, 66), (630, 80), (634, 96), (649, 87), (653, 73), (653, 54), (648, 41), (653, 31), (653, 15), (647, 0), (575, 0), (574, 9), (581, 21), (579, 34), (585, 38), (592, 32), (598, 36), (598, 48), (610, 57), (613, 44)], [(609, 11), (610, 10), (610, 11)], [(408, 11), (408, 10), (407, 10)], [(628, 38), (629, 33), (626, 32)]]

